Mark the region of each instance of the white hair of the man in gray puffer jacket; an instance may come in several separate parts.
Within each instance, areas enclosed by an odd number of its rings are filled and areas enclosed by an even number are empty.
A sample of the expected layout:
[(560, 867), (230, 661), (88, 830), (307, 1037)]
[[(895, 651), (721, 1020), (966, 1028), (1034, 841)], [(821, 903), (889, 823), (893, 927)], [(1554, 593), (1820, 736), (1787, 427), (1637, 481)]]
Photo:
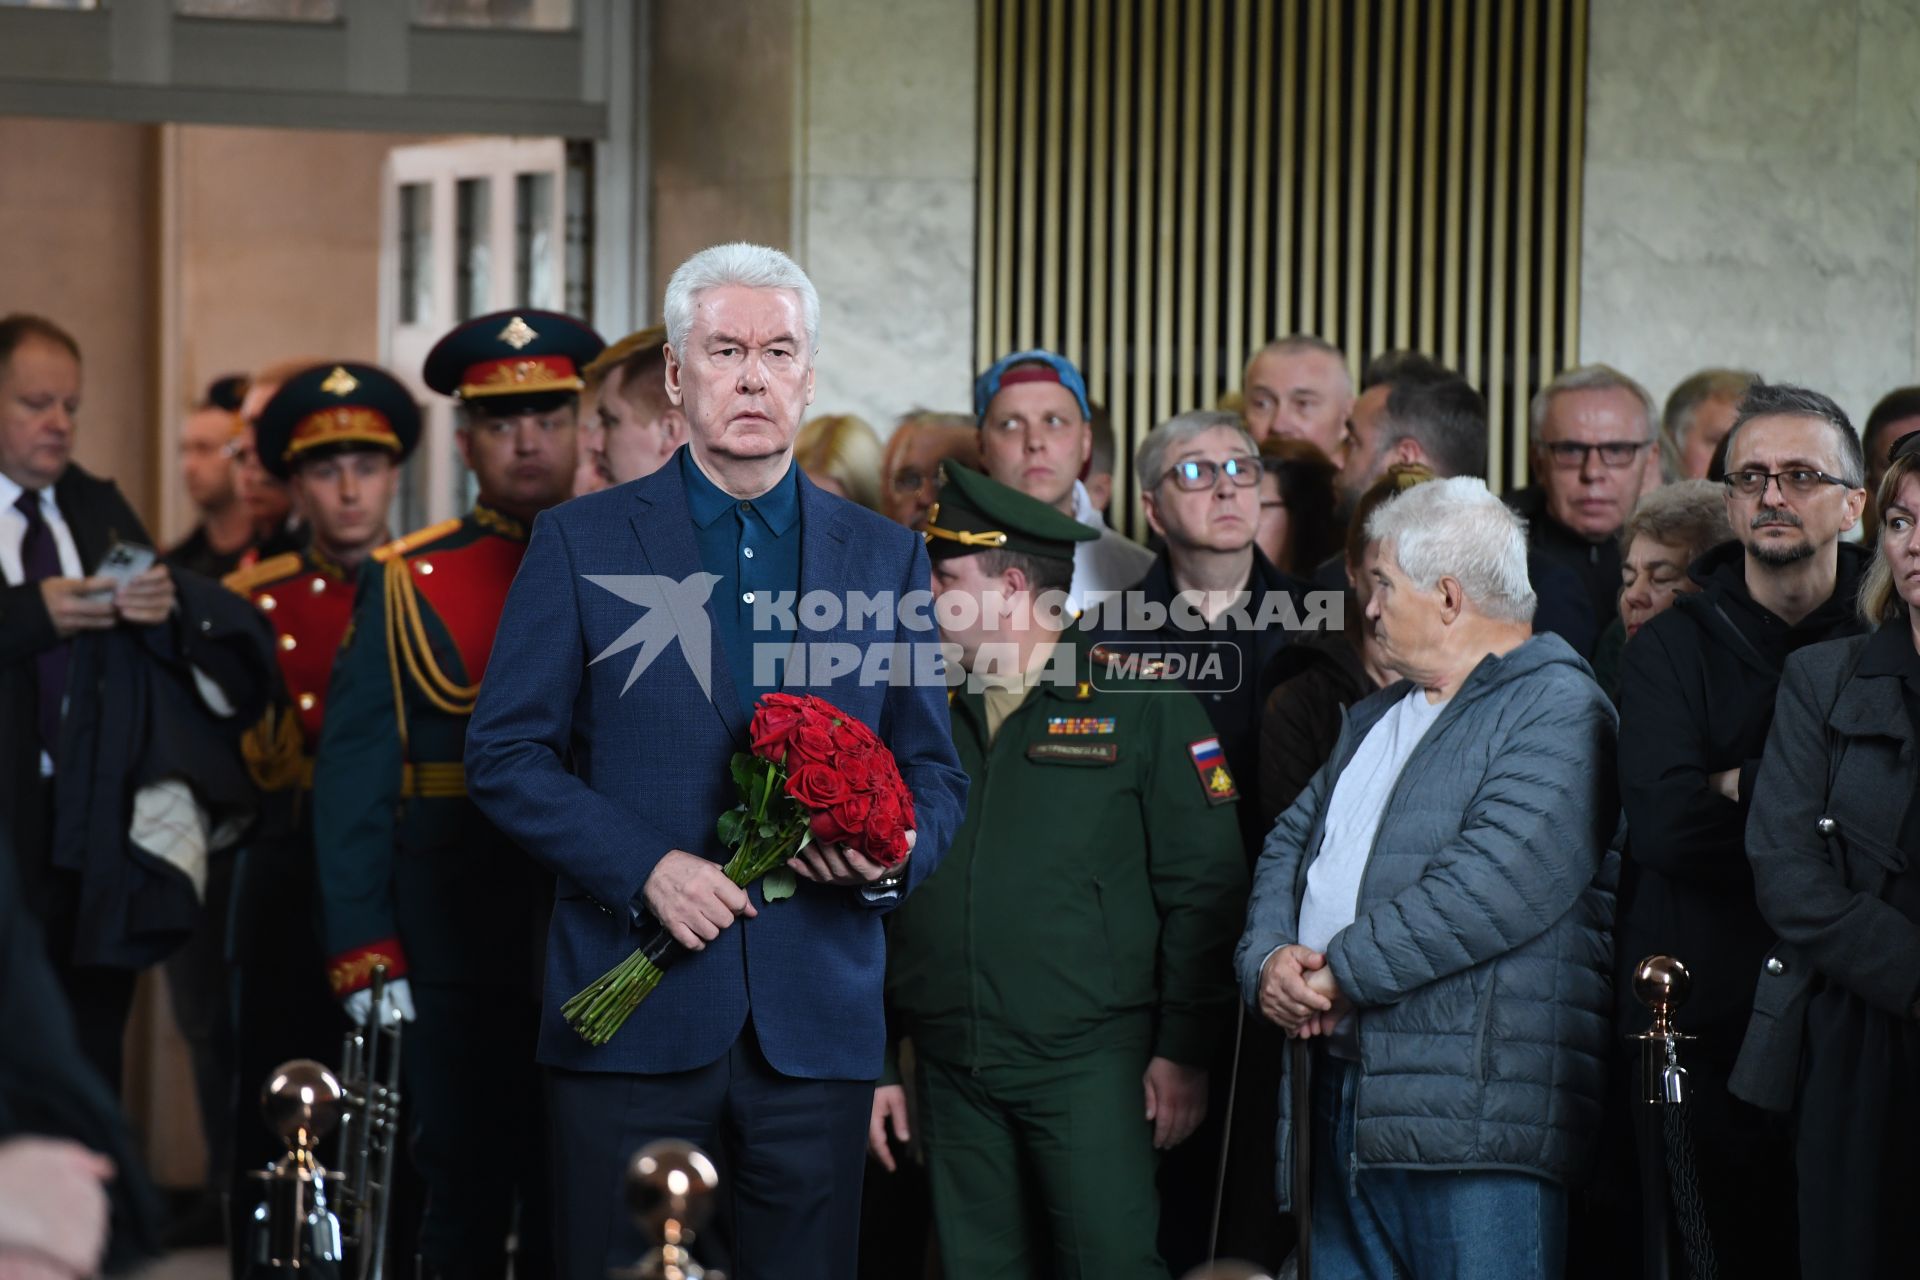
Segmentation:
[(1534, 620), (1526, 580), (1526, 524), (1476, 476), (1428, 480), (1382, 503), (1367, 537), (1394, 545), (1415, 587), (1455, 580), (1473, 606), (1501, 622)]

